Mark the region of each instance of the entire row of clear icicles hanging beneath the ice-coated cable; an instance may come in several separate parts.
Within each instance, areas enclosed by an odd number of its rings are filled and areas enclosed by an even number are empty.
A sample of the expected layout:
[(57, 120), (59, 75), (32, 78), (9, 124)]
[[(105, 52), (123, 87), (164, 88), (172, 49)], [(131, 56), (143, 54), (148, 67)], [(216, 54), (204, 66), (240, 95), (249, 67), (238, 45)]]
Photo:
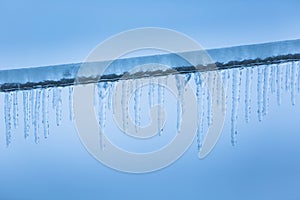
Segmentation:
[[(207, 76), (203, 76), (206, 73)], [(211, 111), (211, 95), (204, 83), (210, 83), (210, 81), (203, 79), (212, 78), (211, 72), (197, 72), (192, 74), (194, 77), (195, 94), (198, 101), (198, 130), (197, 130), (197, 145), (200, 150), (203, 139), (205, 137), (205, 127), (209, 127), (213, 122), (213, 113)], [(228, 102), (231, 102), (231, 143), (235, 145), (237, 142), (237, 120), (239, 112), (240, 99), (242, 97), (241, 88), (244, 87), (244, 114), (245, 121), (248, 123), (251, 116), (257, 113), (257, 118), (262, 121), (264, 116), (268, 113), (270, 94), (276, 95), (277, 104), (281, 104), (282, 93), (289, 92), (291, 96), (292, 105), (296, 104), (296, 94), (300, 93), (300, 66), (299, 62), (288, 62), (282, 64), (262, 65), (247, 68), (235, 68), (226, 69), (218, 72), (222, 80), (222, 87), (218, 84), (213, 85), (214, 90), (219, 91), (217, 101), (223, 105), (223, 112), (226, 111)], [(179, 98), (184, 92), (185, 85), (190, 82), (191, 74), (182, 74), (176, 76), (182, 76), (183, 83), (178, 79), (177, 89)], [(242, 76), (245, 76), (242, 80)], [(170, 75), (171, 76), (171, 75)], [(255, 82), (253, 79), (255, 79)], [(147, 93), (149, 107), (154, 105), (154, 93), (157, 96), (157, 104), (164, 104), (165, 88), (157, 86), (155, 83), (165, 82), (167, 84), (167, 78), (152, 77), (148, 78), (148, 91), (134, 90), (139, 86), (139, 79), (136, 80), (122, 80), (122, 82), (130, 82), (130, 84), (122, 85), (122, 95), (124, 98), (126, 95), (133, 93), (134, 100), (134, 114), (133, 119), (136, 126), (141, 123), (141, 97), (142, 93)], [(156, 80), (155, 80), (156, 79)], [(192, 80), (192, 79), (191, 79)], [(214, 83), (214, 82), (212, 82)], [(129, 86), (128, 86), (129, 85)], [(130, 88), (128, 88), (130, 87)], [(252, 108), (252, 93), (254, 93), (256, 87), (257, 95), (257, 109)], [(112, 93), (115, 88), (115, 82), (100, 82), (96, 84), (96, 101), (98, 109), (98, 122), (100, 129), (105, 128), (106, 112), (113, 106)], [(231, 88), (231, 91), (230, 91)], [(39, 88), (24, 91), (12, 91), (5, 92), (4, 94), (4, 117), (5, 117), (5, 132), (6, 132), (6, 145), (8, 146), (12, 140), (12, 129), (17, 128), (19, 125), (19, 110), (21, 106), (18, 105), (18, 98), (22, 98), (23, 101), (23, 127), (24, 137), (27, 138), (30, 133), (33, 133), (36, 143), (39, 142), (40, 137), (47, 138), (49, 136), (49, 110), (50, 106), (55, 111), (55, 122), (59, 126), (62, 121), (62, 91), (68, 90), (68, 107), (69, 107), (69, 119), (73, 120), (73, 90), (74, 86), (69, 87), (56, 87), (56, 88)], [(130, 90), (130, 91), (129, 91)], [(22, 93), (22, 95), (19, 95)], [(230, 98), (231, 97), (231, 98)], [(51, 102), (50, 102), (51, 101)], [(188, 100), (182, 101), (187, 102)], [(177, 129), (180, 128), (180, 100), (177, 100)], [(184, 105), (182, 105), (184, 108)], [(126, 126), (128, 118), (128, 103), (122, 102), (123, 110), (123, 126)], [(159, 118), (159, 117), (158, 117)], [(158, 119), (159, 121), (160, 119)], [(159, 121), (158, 124), (161, 122)], [(206, 124), (204, 124), (206, 123)], [(126, 128), (123, 127), (123, 130)], [(162, 130), (158, 130), (160, 135)]]

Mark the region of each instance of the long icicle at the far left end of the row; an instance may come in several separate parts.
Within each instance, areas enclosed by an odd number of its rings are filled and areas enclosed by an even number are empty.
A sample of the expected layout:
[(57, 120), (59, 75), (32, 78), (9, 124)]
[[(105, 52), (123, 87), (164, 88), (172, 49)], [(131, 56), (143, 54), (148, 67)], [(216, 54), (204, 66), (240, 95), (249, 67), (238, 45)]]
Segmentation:
[(4, 97), (6, 146), (8, 146), (11, 143), (11, 106), (12, 106), (11, 93), (6, 92)]

